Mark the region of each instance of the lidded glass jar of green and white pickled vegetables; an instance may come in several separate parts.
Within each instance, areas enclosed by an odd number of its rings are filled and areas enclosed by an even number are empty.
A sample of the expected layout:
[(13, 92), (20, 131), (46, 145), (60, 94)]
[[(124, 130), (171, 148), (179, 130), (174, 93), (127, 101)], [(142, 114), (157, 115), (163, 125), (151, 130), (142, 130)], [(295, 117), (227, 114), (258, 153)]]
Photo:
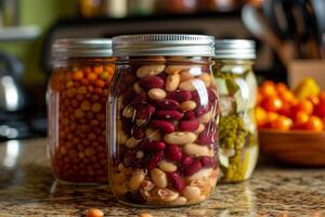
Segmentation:
[(238, 182), (251, 176), (259, 152), (255, 42), (216, 40), (214, 48), (213, 75), (220, 97), (219, 165), (222, 181)]

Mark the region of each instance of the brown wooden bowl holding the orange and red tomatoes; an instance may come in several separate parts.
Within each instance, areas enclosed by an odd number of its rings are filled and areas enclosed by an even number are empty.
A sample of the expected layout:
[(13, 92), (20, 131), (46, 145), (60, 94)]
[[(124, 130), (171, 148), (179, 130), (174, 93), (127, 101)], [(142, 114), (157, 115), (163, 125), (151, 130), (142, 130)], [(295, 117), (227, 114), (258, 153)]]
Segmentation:
[(261, 151), (284, 163), (325, 166), (325, 132), (259, 130)]

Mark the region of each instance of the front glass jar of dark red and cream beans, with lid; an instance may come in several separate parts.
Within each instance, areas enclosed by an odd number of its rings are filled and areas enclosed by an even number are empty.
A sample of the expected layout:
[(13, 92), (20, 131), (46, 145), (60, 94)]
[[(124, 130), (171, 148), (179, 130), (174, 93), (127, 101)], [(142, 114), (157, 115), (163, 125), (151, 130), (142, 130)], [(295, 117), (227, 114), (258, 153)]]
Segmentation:
[(113, 38), (109, 183), (123, 204), (170, 207), (205, 201), (218, 178), (213, 37)]

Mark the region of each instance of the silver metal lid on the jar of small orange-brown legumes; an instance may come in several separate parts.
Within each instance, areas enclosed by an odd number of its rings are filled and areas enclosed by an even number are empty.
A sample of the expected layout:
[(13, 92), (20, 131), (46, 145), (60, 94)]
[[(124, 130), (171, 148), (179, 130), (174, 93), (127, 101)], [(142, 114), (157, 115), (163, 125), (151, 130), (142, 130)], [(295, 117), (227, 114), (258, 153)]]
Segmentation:
[(52, 46), (53, 59), (106, 58), (112, 55), (110, 39), (58, 39)]

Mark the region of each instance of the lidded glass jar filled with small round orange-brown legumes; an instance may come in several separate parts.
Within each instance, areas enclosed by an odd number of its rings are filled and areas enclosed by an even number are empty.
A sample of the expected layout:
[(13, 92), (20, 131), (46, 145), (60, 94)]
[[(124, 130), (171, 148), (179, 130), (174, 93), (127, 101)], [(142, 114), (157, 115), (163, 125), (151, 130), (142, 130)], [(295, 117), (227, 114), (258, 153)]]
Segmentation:
[(114, 73), (109, 39), (53, 44), (48, 87), (49, 151), (57, 179), (107, 183), (106, 103)]

